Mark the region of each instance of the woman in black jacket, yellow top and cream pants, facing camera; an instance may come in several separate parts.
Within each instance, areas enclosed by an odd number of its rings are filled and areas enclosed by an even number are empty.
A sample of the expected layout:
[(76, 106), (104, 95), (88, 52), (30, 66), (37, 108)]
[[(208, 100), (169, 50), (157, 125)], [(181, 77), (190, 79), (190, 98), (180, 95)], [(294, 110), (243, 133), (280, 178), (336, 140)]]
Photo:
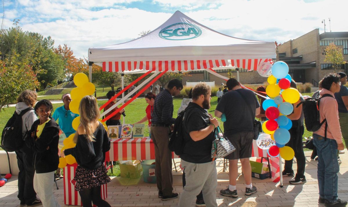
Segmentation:
[(39, 101), (34, 108), (39, 117), (26, 136), (26, 145), (34, 151), (34, 189), (45, 207), (60, 207), (53, 196), (54, 173), (58, 168), (59, 126), (52, 118), (49, 100)]

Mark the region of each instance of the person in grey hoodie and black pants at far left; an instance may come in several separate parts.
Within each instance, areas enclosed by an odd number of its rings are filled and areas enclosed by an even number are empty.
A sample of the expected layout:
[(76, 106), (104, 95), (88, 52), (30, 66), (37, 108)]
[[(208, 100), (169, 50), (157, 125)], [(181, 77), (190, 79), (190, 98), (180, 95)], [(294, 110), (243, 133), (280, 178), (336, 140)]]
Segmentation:
[[(34, 121), (38, 119), (34, 113), (37, 94), (35, 91), (25, 90), (19, 94), (16, 104), (16, 113), (22, 114), (22, 136), (24, 138), (27, 131), (30, 130)], [(20, 206), (40, 205), (41, 201), (37, 199), (34, 190), (33, 180), (35, 168), (33, 166), (34, 151), (25, 144), (22, 149), (15, 151), (18, 163), (18, 198), (21, 201)]]

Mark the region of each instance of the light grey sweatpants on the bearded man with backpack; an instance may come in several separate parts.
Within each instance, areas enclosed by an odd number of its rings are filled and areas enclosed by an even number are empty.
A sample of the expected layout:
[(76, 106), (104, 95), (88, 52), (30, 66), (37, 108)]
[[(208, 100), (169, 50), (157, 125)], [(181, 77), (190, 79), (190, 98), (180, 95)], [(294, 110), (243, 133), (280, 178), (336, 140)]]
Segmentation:
[(181, 166), (185, 168), (186, 185), (180, 193), (179, 207), (190, 206), (192, 200), (196, 198), (200, 191), (203, 191), (203, 198), (207, 207), (217, 207), (215, 161), (196, 164), (181, 160)]

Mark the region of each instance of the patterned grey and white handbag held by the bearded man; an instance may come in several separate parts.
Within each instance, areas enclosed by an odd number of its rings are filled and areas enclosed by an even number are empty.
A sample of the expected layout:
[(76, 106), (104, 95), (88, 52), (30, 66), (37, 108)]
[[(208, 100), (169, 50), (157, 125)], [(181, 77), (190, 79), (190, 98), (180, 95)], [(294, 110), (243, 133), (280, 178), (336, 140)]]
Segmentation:
[(214, 138), (212, 144), (212, 152), (211, 157), (213, 158), (213, 161), (216, 158), (223, 158), (227, 155), (231, 154), (236, 150), (236, 148), (233, 146), (233, 144), (223, 136), (220, 136), (219, 132), (221, 132), (221, 129), (219, 126), (216, 127), (214, 130)]

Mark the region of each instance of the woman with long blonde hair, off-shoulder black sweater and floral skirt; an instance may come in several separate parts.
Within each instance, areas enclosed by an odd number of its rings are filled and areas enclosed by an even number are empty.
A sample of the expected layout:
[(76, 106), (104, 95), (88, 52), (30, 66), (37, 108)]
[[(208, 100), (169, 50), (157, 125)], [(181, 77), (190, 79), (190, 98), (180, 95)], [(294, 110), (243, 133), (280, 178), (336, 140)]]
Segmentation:
[(80, 125), (74, 136), (75, 148), (62, 150), (61, 156), (72, 155), (78, 164), (74, 180), (84, 207), (110, 207), (101, 198), (101, 185), (110, 182), (104, 166), (105, 152), (110, 149), (110, 139), (100, 117), (97, 100), (93, 96), (81, 99)]

